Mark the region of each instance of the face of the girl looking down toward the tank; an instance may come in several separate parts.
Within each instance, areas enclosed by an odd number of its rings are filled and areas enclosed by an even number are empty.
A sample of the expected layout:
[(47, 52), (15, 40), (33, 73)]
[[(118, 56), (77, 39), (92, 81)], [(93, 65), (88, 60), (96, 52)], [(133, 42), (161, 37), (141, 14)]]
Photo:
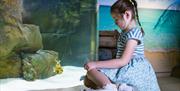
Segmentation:
[(119, 13), (111, 13), (116, 25), (121, 29), (125, 30), (127, 29), (131, 18), (129, 17), (129, 14), (126, 12), (125, 14), (120, 15)]

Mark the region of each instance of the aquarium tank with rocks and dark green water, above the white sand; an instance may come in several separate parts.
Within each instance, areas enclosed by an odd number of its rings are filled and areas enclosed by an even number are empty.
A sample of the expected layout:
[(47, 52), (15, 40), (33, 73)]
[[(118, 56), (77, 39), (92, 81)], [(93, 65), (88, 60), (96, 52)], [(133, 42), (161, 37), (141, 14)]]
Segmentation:
[(95, 0), (1, 0), (0, 79), (33, 81), (97, 59)]

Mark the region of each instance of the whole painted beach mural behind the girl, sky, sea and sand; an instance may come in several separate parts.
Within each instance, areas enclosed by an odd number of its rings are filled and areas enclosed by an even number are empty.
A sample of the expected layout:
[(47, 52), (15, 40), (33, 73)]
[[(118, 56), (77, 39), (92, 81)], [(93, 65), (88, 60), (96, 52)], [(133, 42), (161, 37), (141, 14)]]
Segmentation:
[[(115, 25), (110, 6), (116, 0), (98, 0), (99, 31), (121, 30)], [(170, 72), (180, 58), (180, 0), (137, 0), (145, 31), (145, 54), (156, 72)]]

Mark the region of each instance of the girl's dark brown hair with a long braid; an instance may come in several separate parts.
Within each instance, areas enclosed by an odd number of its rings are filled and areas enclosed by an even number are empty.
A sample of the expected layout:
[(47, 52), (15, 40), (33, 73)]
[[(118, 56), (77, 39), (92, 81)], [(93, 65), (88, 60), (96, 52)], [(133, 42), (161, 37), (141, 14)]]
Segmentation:
[(118, 13), (118, 14), (122, 15), (127, 10), (132, 11), (132, 18), (137, 20), (138, 24), (141, 27), (141, 32), (144, 35), (144, 30), (143, 30), (143, 28), (141, 26), (141, 23), (139, 21), (137, 2), (135, 0), (117, 0), (111, 6), (111, 13), (115, 12), (115, 13)]

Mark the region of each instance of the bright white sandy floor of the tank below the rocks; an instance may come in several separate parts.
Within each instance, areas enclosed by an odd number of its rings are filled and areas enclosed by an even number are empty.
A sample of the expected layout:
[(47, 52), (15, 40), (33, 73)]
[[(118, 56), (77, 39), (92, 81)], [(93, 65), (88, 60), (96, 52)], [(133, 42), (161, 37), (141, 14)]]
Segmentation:
[(81, 77), (86, 74), (82, 67), (65, 66), (64, 72), (47, 79), (26, 81), (21, 78), (0, 79), (0, 91), (81, 91)]

